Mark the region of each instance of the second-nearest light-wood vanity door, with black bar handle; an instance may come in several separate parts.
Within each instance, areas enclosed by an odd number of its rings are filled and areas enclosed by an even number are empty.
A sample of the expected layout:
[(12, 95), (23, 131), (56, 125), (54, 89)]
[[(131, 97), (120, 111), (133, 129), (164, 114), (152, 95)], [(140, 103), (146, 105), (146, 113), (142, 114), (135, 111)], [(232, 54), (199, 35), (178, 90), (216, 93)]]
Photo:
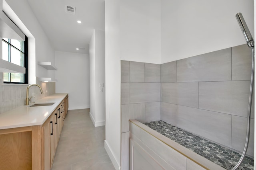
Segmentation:
[(55, 124), (54, 124), (54, 114), (50, 116), (50, 166), (52, 167), (54, 154), (55, 154)]

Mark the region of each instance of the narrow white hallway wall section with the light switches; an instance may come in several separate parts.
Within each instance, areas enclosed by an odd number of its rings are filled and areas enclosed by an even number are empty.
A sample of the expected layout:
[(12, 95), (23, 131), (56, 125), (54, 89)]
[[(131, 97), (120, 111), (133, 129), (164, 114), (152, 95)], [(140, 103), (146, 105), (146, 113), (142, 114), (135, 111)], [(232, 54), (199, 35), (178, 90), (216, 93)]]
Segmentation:
[(97, 29), (90, 41), (90, 117), (95, 127), (105, 125), (105, 32)]

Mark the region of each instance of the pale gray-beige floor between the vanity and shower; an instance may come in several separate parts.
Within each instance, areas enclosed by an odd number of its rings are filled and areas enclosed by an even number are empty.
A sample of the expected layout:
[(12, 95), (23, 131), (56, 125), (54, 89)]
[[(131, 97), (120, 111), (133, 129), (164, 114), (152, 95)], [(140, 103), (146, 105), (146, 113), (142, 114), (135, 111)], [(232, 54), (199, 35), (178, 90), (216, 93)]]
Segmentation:
[(52, 170), (114, 170), (104, 149), (105, 126), (94, 127), (89, 111), (68, 111)]

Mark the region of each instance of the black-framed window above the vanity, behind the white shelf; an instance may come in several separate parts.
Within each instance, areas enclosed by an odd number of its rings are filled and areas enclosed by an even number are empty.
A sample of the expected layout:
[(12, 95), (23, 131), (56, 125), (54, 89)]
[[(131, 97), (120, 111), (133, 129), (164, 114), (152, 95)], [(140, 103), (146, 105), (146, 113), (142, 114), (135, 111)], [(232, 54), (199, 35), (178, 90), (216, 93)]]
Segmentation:
[(23, 66), (26, 73), (4, 72), (4, 83), (28, 84), (28, 38), (25, 41), (2, 39), (3, 60)]

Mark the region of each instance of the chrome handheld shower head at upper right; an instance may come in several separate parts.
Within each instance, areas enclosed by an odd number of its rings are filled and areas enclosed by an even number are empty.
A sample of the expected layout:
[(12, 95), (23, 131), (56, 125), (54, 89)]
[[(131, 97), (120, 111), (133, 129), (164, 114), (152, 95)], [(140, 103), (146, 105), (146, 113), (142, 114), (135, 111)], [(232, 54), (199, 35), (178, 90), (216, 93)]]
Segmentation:
[(252, 34), (250, 33), (246, 22), (244, 21), (244, 17), (242, 16), (242, 13), (236, 14), (236, 20), (238, 21), (238, 24), (240, 25), (240, 28), (244, 34), (244, 38), (248, 44), (249, 47), (254, 47), (254, 40), (252, 38)]

